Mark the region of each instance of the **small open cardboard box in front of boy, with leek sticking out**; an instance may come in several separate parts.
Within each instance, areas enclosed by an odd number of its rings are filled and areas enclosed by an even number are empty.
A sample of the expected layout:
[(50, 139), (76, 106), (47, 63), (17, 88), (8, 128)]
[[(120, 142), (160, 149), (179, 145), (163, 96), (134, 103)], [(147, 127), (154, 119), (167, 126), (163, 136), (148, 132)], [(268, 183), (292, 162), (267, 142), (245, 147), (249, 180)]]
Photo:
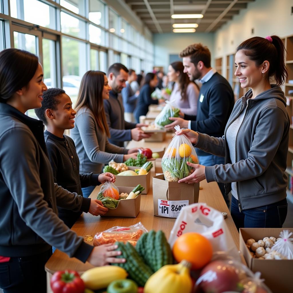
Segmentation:
[[(119, 189), (119, 194), (122, 192), (123, 193), (127, 192), (128, 194), (130, 194), (134, 187), (117, 186), (117, 188)], [(116, 209), (109, 209), (109, 211), (102, 217), (136, 218), (139, 211), (140, 211), (140, 194), (137, 195), (137, 197), (135, 197), (134, 199), (120, 200)]]

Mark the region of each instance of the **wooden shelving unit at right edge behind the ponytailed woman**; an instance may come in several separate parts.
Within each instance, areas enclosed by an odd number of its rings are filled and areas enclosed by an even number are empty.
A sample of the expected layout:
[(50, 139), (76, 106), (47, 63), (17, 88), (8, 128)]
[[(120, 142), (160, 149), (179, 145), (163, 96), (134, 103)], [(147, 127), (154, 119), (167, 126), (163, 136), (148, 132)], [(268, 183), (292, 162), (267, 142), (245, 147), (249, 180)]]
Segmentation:
[[(287, 187), (287, 199), (293, 201), (292, 185), (293, 185), (293, 35), (287, 36), (282, 39), (287, 50), (286, 67), (288, 71), (288, 79), (283, 84), (282, 90), (287, 98), (287, 112), (291, 119), (291, 126), (289, 130), (289, 147), (287, 155), (287, 169), (288, 187)], [(289, 188), (291, 187), (291, 188)]]

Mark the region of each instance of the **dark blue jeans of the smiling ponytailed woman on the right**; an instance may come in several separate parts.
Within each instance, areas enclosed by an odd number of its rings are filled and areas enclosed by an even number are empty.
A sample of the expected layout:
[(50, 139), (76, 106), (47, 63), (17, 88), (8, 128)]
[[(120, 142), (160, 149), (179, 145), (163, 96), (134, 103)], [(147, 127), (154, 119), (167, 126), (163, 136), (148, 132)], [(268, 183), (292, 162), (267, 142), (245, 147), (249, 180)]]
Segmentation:
[(238, 202), (234, 196), (231, 200), (231, 216), (239, 228), (282, 228), (287, 216), (286, 198), (279, 202), (239, 212)]

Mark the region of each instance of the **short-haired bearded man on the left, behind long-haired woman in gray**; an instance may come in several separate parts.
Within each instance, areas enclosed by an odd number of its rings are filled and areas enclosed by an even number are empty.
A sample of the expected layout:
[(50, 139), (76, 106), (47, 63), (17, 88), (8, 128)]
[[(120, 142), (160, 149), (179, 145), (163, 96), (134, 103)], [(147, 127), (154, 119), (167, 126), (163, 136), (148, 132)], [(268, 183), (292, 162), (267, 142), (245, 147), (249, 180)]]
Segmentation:
[(108, 100), (104, 100), (104, 109), (111, 137), (109, 142), (118, 147), (123, 147), (124, 142), (134, 139), (139, 141), (150, 137), (151, 134), (144, 133), (140, 127), (145, 124), (130, 123), (124, 119), (124, 107), (121, 98), (122, 88), (128, 79), (128, 69), (121, 63), (114, 63), (108, 69), (108, 83), (112, 88)]

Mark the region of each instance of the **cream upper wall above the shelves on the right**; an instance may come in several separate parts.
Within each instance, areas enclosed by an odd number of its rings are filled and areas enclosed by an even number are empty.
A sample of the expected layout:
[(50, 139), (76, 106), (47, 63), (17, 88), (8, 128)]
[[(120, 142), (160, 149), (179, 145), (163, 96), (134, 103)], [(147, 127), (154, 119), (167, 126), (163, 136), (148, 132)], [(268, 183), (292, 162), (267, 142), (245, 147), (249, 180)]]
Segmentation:
[[(224, 57), (223, 73), (226, 73), (226, 55), (233, 54), (236, 47), (251, 37), (293, 34), (293, 0), (256, 0), (234, 16), (215, 33), (214, 57)], [(251, 29), (254, 33), (251, 33)]]

